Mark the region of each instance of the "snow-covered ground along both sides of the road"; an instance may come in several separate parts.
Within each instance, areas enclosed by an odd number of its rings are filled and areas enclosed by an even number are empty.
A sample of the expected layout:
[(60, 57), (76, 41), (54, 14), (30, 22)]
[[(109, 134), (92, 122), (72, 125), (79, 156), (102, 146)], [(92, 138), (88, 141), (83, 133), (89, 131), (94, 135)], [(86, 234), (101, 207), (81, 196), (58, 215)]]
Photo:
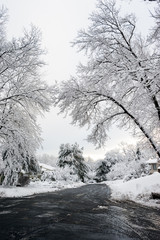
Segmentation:
[[(160, 193), (160, 173), (123, 182), (123, 180), (105, 182), (112, 190), (112, 198), (133, 200), (148, 206), (160, 207), (160, 200), (150, 199), (151, 193)], [(73, 181), (36, 181), (26, 187), (0, 187), (0, 197), (24, 197), (37, 193), (53, 192), (65, 188), (84, 185)]]

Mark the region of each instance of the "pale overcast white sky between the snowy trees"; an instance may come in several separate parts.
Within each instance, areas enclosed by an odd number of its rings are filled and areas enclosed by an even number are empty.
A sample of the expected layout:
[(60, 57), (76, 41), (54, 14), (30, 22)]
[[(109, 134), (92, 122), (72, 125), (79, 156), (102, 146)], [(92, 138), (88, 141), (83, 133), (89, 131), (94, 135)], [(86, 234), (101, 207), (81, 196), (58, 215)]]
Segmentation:
[[(147, 4), (143, 0), (117, 2), (123, 5), (125, 3), (124, 12), (136, 11), (139, 28), (146, 33), (150, 24), (148, 9), (154, 4)], [(50, 84), (75, 75), (77, 64), (83, 61), (84, 56), (71, 47), (71, 42), (76, 38), (78, 30), (87, 27), (88, 17), (95, 9), (95, 3), (96, 0), (0, 0), (0, 5), (8, 8), (9, 38), (21, 36), (23, 28), (29, 28), (31, 23), (41, 30), (42, 44), (48, 52), (45, 56), (48, 65), (44, 69), (44, 78)], [(87, 131), (71, 126), (71, 119), (57, 116), (57, 112), (57, 109), (52, 108), (43, 119), (39, 119), (44, 139), (43, 150), (39, 153), (57, 156), (60, 144), (77, 142), (80, 147), (84, 147), (86, 157), (98, 159), (103, 158), (108, 150), (118, 147), (121, 142), (135, 142), (129, 133), (112, 128), (109, 133), (111, 139), (106, 147), (95, 150), (92, 144), (84, 140)]]

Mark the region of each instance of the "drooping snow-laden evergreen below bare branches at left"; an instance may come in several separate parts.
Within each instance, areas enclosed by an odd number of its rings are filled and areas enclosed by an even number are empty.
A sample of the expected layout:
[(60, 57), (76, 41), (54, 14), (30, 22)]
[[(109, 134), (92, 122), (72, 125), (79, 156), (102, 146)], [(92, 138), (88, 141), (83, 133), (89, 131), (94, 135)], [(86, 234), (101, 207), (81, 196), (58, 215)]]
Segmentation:
[(40, 171), (35, 157), (39, 146), (39, 129), (25, 113), (13, 107), (8, 113), (5, 127), (6, 135), (1, 138), (3, 185), (16, 185), (20, 173), (36, 174)]

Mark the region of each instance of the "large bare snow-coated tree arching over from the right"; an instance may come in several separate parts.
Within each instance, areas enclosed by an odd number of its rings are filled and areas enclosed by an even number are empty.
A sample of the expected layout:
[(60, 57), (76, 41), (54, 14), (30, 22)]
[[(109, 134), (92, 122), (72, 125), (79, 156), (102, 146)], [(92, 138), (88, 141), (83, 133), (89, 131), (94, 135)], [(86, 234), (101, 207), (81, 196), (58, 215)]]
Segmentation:
[(74, 42), (88, 63), (55, 86), (55, 105), (73, 124), (92, 127), (88, 140), (99, 146), (117, 124), (146, 138), (160, 157), (159, 48), (140, 37), (135, 16), (122, 16), (114, 0), (97, 1), (90, 21)]

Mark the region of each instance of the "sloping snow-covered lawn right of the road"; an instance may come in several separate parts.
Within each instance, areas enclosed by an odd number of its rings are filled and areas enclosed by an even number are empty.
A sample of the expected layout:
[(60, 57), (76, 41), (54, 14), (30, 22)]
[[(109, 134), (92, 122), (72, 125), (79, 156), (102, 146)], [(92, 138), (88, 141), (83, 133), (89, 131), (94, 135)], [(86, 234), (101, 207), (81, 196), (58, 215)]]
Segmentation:
[(112, 198), (133, 200), (148, 206), (160, 207), (160, 200), (150, 199), (151, 193), (160, 193), (160, 173), (123, 182), (122, 180), (106, 182), (112, 190)]

